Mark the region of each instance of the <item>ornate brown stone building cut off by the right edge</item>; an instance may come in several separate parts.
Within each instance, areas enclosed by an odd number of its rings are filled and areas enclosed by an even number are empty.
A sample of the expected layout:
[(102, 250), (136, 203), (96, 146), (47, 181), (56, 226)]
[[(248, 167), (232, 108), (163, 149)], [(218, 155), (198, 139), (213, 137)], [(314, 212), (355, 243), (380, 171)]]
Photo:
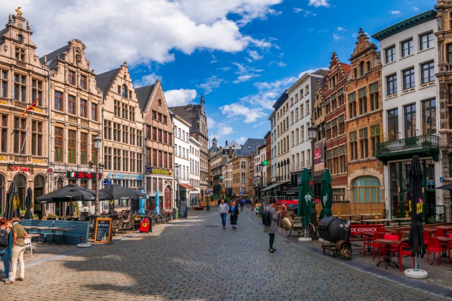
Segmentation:
[[(441, 177), (444, 179), (441, 184), (450, 184), (452, 183), (452, 1), (438, 0), (435, 9), (438, 29), (435, 33), (438, 43), (438, 72), (436, 73), (439, 91), (438, 132), (441, 138), (439, 146), (442, 164)], [(450, 190), (442, 192), (447, 211), (445, 215), (450, 217), (452, 194)]]

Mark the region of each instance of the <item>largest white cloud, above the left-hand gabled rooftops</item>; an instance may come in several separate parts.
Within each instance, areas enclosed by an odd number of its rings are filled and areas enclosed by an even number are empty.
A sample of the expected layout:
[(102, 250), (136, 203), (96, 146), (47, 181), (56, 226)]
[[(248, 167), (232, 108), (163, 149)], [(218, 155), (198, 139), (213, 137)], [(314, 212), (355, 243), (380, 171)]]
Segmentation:
[[(86, 58), (100, 73), (117, 68), (174, 60), (174, 51), (196, 49), (236, 53), (249, 45), (272, 44), (241, 32), (240, 26), (278, 14), (282, 0), (57, 0), (0, 2), (1, 12), (22, 6), (30, 20), (40, 56), (77, 38), (86, 45)], [(42, 8), (46, 9), (43, 10)], [(198, 9), (202, 8), (202, 9)], [(238, 16), (235, 20), (230, 16)], [(236, 21), (236, 19), (238, 19)], [(57, 29), (57, 30), (55, 30)]]

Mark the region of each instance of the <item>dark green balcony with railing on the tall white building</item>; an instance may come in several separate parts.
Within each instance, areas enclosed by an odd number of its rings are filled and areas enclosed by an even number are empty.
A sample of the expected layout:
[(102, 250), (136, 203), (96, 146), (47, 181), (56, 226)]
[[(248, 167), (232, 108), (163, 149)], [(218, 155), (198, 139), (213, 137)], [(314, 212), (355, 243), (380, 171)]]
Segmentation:
[(386, 165), (390, 160), (411, 159), (413, 155), (439, 161), (439, 137), (427, 134), (377, 143), (375, 157)]

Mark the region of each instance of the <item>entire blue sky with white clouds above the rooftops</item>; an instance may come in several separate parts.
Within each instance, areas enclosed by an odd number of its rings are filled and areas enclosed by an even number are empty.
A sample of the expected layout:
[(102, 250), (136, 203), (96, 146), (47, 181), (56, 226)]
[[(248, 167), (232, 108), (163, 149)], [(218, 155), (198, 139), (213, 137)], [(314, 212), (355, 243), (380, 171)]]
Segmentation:
[(303, 72), (327, 67), (331, 52), (349, 63), (359, 28), (372, 35), (435, 3), (12, 0), (0, 12), (6, 24), (22, 7), (39, 56), (77, 38), (97, 73), (127, 61), (135, 85), (160, 79), (170, 105), (196, 103), (203, 93), (209, 136), (223, 145), (263, 137), (279, 95)]

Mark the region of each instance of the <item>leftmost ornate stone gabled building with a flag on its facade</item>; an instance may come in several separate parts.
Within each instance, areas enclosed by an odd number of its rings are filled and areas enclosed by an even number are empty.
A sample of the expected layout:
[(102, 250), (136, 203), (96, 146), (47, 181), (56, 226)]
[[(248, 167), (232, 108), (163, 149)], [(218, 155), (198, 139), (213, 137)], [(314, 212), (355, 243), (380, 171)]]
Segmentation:
[[(10, 14), (0, 31), (0, 213), (6, 193), (15, 181), (19, 189), (18, 206), (25, 210), (28, 188), (33, 198), (49, 187), (49, 100), (47, 66), (38, 60), (31, 40), (29, 22)], [(36, 110), (23, 114), (36, 100)], [(40, 204), (33, 199), (32, 211), (42, 217)], [(45, 207), (45, 206), (44, 206)], [(45, 210), (45, 208), (44, 208)]]

